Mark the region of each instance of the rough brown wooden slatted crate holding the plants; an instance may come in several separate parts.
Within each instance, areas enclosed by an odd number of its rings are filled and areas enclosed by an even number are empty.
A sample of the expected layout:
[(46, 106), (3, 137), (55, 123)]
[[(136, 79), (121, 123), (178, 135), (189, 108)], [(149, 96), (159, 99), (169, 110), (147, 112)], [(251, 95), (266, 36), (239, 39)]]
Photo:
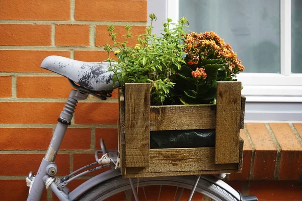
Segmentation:
[[(123, 177), (235, 173), (242, 170), (245, 97), (241, 82), (218, 82), (216, 105), (150, 106), (149, 83), (119, 91)], [(150, 149), (150, 131), (216, 129), (215, 147)]]

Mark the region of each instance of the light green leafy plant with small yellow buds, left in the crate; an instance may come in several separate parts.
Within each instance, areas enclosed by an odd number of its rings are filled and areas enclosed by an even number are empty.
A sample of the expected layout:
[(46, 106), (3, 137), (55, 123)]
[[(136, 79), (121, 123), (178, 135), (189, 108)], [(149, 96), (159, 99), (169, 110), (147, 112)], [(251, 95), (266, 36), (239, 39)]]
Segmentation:
[[(173, 24), (171, 19), (163, 23), (164, 32), (157, 37), (152, 33), (153, 22), (156, 20), (154, 14), (150, 14), (151, 25), (146, 27), (145, 33), (138, 36), (138, 44), (135, 47), (127, 46), (128, 39), (133, 38), (130, 32), (131, 27), (125, 26), (127, 33), (123, 35), (124, 41), (116, 41), (114, 26), (109, 25), (109, 36), (113, 45), (106, 44), (105, 51), (108, 52), (110, 62), (109, 71), (113, 71), (113, 82), (118, 82), (121, 87), (129, 82), (150, 82), (151, 102), (153, 105), (163, 105), (165, 100), (171, 98), (170, 89), (175, 85), (174, 76), (181, 69), (181, 63), (185, 53), (183, 49), (186, 18), (180, 18), (177, 24)], [(109, 52), (112, 48), (117, 48), (114, 52), (118, 60), (114, 62), (110, 58)]]

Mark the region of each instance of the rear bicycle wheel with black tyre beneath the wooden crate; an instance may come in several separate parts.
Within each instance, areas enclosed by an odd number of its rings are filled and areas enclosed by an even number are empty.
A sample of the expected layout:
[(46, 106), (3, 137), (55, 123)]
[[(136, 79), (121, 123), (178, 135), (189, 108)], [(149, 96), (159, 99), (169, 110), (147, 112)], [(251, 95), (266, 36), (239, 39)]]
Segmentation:
[[(139, 178), (138, 197), (139, 200), (187, 200), (196, 176), (169, 176), (169, 177), (150, 177)], [(137, 178), (132, 179), (134, 186), (137, 186)], [(135, 189), (137, 190), (137, 189)], [(183, 191), (183, 193), (181, 192)], [(196, 193), (197, 192), (197, 193)], [(236, 196), (226, 189), (200, 177), (192, 200), (202, 200), (203, 195), (207, 200), (235, 201)], [(93, 187), (84, 193), (77, 200), (95, 201), (95, 200), (128, 200), (133, 201), (129, 179), (123, 179), (121, 176), (109, 179)]]

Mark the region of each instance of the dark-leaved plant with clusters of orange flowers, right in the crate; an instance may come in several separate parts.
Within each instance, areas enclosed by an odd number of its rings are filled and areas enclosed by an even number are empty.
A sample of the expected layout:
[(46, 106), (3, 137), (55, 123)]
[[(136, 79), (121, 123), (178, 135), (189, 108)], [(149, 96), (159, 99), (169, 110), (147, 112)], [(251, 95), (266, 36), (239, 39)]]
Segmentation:
[(244, 66), (232, 47), (214, 32), (191, 32), (184, 42), (187, 64), (182, 65), (175, 79), (174, 102), (215, 103), (217, 81), (235, 81)]

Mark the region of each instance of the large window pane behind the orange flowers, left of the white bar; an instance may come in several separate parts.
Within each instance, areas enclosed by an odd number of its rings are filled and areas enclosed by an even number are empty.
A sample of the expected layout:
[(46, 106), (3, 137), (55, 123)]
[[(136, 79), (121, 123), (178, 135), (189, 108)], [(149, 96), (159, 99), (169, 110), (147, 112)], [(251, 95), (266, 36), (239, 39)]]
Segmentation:
[(279, 0), (179, 0), (179, 16), (230, 43), (245, 72), (280, 73)]

